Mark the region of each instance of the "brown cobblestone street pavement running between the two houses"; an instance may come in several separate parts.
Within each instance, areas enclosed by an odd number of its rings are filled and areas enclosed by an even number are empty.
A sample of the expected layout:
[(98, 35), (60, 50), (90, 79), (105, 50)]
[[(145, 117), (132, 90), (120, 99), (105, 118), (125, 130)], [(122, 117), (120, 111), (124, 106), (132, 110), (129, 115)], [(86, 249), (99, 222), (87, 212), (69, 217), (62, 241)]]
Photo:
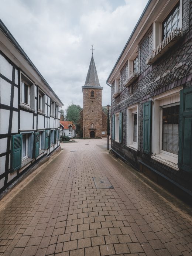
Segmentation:
[(77, 141), (1, 199), (0, 255), (192, 255), (190, 206), (109, 154), (106, 139)]

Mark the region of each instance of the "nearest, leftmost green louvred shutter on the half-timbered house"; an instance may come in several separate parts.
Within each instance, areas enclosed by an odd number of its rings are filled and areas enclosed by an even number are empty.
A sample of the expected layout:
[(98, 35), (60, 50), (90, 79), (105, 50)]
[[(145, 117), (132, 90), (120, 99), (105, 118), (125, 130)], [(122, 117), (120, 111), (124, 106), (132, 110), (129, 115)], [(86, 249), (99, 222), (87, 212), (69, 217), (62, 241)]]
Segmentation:
[(22, 156), (22, 134), (11, 136), (11, 170), (15, 171), (21, 168)]

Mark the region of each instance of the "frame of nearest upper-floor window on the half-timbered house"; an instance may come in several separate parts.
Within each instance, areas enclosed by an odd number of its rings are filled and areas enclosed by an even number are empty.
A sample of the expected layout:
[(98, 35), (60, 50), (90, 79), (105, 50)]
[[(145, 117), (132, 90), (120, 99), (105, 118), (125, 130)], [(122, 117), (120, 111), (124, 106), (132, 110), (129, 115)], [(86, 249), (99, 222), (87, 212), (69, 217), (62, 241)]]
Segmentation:
[[(23, 72), (20, 72), (20, 106), (23, 106), (25, 108), (34, 110), (34, 83), (26, 76), (23, 74)], [(28, 102), (24, 102), (24, 85), (28, 86)]]

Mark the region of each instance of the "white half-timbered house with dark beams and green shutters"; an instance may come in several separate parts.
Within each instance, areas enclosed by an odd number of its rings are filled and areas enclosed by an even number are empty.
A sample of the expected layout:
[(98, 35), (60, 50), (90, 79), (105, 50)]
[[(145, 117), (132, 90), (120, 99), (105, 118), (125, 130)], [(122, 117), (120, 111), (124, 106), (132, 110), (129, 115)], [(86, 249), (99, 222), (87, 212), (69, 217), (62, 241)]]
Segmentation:
[(62, 105), (0, 20), (0, 192), (59, 149)]

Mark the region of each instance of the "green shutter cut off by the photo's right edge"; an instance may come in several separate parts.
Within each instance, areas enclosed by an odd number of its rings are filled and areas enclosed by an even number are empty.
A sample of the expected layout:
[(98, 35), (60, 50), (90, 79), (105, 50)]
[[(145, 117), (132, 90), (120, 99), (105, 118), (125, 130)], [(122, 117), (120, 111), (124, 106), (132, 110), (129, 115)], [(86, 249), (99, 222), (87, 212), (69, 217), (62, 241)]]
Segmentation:
[(180, 91), (178, 167), (192, 172), (192, 87)]

